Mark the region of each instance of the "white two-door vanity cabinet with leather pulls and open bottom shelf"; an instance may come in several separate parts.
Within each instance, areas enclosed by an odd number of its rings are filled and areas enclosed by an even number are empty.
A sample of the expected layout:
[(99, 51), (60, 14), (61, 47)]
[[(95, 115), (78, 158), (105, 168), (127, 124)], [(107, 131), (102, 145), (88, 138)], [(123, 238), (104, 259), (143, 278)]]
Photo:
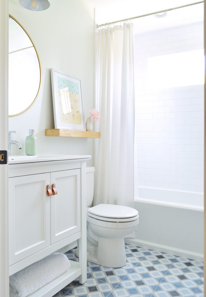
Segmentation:
[[(79, 263), (71, 261), (70, 270), (60, 276), (64, 281), (59, 277), (58, 286), (53, 281), (32, 297), (53, 296), (78, 276), (82, 283), (87, 279), (86, 160), (90, 156), (62, 158), (9, 164), (10, 275), (77, 239), (81, 246)], [(52, 184), (57, 194), (47, 196), (46, 187)]]

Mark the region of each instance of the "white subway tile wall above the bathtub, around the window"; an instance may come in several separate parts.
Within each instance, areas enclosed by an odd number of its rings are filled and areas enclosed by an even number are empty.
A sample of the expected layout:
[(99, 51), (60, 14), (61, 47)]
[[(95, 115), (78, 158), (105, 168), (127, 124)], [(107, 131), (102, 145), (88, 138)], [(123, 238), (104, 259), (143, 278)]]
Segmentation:
[(196, 49), (203, 23), (134, 38), (136, 186), (203, 192), (204, 86), (147, 84), (148, 58)]

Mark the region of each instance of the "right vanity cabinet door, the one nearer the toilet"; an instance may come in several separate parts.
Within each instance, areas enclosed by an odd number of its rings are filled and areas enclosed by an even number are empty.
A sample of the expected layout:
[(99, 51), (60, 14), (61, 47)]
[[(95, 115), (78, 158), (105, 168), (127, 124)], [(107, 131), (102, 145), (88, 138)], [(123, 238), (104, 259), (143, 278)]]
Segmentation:
[(51, 244), (81, 230), (81, 169), (51, 173)]

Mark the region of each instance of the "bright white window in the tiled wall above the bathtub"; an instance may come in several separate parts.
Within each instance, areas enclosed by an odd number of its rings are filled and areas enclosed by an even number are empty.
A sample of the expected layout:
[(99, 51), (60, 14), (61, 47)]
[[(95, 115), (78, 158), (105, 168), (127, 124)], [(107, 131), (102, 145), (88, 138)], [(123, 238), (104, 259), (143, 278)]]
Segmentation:
[(152, 88), (204, 84), (204, 50), (148, 58), (148, 84)]

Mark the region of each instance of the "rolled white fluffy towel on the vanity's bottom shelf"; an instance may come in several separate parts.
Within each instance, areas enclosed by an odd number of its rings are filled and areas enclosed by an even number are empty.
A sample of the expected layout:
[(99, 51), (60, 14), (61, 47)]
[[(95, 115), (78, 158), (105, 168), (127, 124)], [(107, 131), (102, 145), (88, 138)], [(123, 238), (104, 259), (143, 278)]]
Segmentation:
[(10, 297), (26, 297), (70, 268), (66, 255), (51, 254), (9, 277)]

